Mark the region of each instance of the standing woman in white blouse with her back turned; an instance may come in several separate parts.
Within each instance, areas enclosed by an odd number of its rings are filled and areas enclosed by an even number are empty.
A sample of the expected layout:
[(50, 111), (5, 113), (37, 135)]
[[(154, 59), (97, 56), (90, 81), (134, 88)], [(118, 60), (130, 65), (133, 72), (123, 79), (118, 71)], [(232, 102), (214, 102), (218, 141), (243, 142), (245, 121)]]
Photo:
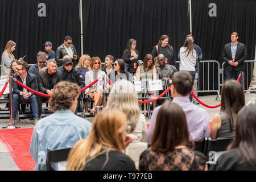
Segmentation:
[[(196, 76), (196, 51), (191, 39), (187, 38), (184, 46), (180, 48), (180, 71), (189, 71), (195, 79)], [(192, 94), (189, 99), (192, 101)]]

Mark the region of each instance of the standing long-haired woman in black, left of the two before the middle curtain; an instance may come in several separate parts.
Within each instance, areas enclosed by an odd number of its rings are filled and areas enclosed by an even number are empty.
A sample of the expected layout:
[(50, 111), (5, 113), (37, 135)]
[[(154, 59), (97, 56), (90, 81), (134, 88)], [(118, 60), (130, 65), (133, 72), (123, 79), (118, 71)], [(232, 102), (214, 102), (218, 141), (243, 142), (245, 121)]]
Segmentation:
[(123, 51), (123, 61), (128, 66), (129, 73), (135, 73), (136, 69), (138, 67), (138, 60), (139, 60), (139, 51), (136, 49), (136, 40), (135, 39), (129, 39), (125, 48), (125, 51)]

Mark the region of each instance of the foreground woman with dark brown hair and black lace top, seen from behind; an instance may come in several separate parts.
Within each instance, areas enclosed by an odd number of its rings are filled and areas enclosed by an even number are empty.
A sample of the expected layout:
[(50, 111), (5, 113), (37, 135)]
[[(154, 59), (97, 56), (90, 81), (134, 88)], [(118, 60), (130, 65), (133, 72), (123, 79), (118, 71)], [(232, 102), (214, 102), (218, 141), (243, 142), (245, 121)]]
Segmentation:
[(141, 154), (141, 171), (203, 171), (206, 158), (189, 148), (189, 131), (184, 111), (175, 102), (159, 110), (151, 147)]

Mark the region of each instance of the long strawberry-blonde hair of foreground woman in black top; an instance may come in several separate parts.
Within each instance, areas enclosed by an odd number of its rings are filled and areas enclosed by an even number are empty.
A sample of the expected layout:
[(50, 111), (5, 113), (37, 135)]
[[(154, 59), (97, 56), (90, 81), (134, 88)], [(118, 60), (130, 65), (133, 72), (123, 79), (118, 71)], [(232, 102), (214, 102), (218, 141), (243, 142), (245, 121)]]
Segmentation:
[[(126, 115), (114, 109), (104, 109), (93, 120), (92, 131), (87, 139), (76, 143), (67, 160), (68, 171), (81, 171), (89, 158), (97, 156), (101, 151), (106, 152), (108, 163), (109, 151), (120, 151), (125, 148), (122, 133), (126, 127)], [(102, 166), (102, 168), (105, 166)]]

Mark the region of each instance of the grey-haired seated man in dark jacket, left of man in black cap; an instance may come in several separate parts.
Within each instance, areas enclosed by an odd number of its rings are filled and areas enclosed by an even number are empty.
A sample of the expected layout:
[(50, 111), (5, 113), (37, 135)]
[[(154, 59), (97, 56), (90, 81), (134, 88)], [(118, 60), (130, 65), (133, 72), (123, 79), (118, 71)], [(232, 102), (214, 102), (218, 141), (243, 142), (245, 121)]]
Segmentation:
[[(38, 72), (38, 92), (51, 95), (53, 87), (60, 81), (61, 71), (56, 70), (57, 63), (55, 60), (48, 60), (47, 71)], [(42, 114), (42, 104), (49, 100), (49, 97), (37, 96), (39, 118)]]

